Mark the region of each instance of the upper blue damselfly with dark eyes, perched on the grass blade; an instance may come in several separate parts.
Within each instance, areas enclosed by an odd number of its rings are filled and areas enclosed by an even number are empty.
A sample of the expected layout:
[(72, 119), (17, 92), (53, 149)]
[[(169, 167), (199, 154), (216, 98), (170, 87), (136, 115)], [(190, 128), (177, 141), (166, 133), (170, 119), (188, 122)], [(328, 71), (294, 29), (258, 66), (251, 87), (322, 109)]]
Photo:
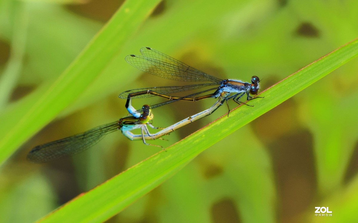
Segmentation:
[[(135, 90), (129, 90), (122, 92), (119, 97), (127, 99), (126, 108), (131, 115), (134, 117), (139, 117), (142, 110), (135, 110), (131, 105), (132, 98), (143, 98), (143, 97), (152, 97), (160, 96), (169, 99), (169, 101), (162, 102), (156, 105), (152, 105), (151, 108), (156, 108), (168, 103), (172, 103), (179, 100), (185, 101), (199, 101), (204, 98), (217, 98), (223, 92), (234, 93), (234, 95), (226, 98), (226, 101), (233, 99), (233, 101), (238, 104), (244, 103), (240, 101), (240, 98), (247, 95), (246, 100), (252, 100), (259, 97), (251, 97), (251, 95), (256, 95), (259, 89), (260, 79), (257, 76), (251, 77), (251, 83), (243, 82), (240, 80), (225, 79), (222, 80), (217, 77), (205, 74), (202, 71), (199, 71), (191, 66), (180, 62), (173, 57), (165, 55), (159, 51), (156, 51), (150, 47), (143, 47), (140, 49), (142, 56), (137, 55), (128, 55), (125, 57), (125, 60), (132, 66), (137, 69), (153, 74), (159, 77), (163, 77), (171, 80), (178, 81), (190, 81), (190, 82), (211, 82), (211, 83), (201, 83), (196, 85), (187, 85), (187, 86), (165, 86), (165, 87), (148, 87), (148, 88), (139, 88)], [(209, 88), (204, 91), (193, 93), (184, 97), (174, 97), (170, 94), (195, 90), (203, 87), (216, 86)], [(213, 93), (198, 96), (202, 93), (213, 91)]]

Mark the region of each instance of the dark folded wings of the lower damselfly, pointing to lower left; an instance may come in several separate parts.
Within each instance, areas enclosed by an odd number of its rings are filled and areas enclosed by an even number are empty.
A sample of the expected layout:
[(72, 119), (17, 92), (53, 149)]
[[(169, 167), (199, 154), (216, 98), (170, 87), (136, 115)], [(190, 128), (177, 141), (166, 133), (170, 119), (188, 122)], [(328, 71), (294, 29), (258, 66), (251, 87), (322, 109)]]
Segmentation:
[(95, 145), (103, 136), (117, 129), (118, 121), (101, 125), (61, 140), (45, 143), (34, 147), (27, 155), (27, 159), (34, 163), (44, 163), (58, 158), (69, 157)]

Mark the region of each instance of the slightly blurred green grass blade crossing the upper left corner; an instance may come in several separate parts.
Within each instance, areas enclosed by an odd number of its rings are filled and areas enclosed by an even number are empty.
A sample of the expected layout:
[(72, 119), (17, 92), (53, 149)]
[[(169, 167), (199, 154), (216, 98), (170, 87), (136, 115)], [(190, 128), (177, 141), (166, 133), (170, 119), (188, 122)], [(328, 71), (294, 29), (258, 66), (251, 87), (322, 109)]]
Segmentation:
[(158, 2), (124, 2), (57, 80), (40, 86), (0, 115), (0, 120), (6, 120), (0, 128), (0, 163), (86, 90), (125, 41), (134, 35)]

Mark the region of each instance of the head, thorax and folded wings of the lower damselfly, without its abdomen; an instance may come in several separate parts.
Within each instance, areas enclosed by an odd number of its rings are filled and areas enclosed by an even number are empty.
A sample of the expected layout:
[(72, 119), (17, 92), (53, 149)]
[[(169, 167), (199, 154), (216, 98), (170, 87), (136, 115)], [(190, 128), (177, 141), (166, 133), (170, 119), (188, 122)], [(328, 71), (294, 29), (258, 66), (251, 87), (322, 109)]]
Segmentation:
[[(149, 133), (147, 126), (150, 126), (151, 128), (157, 127), (154, 127), (151, 125), (151, 123), (149, 123), (153, 119), (153, 113), (151, 112), (149, 105), (144, 105), (142, 110), (143, 113), (139, 118), (135, 118), (130, 115), (121, 118), (116, 122), (111, 122), (96, 128), (92, 128), (91, 130), (79, 133), (74, 136), (69, 136), (61, 140), (56, 140), (36, 146), (28, 153), (27, 158), (30, 162), (42, 163), (58, 158), (69, 157), (88, 149), (89, 147), (99, 142), (108, 133), (117, 130), (121, 130), (123, 135), (125, 135), (130, 140), (142, 139), (144, 144), (151, 145), (145, 142), (145, 136), (153, 136)], [(137, 128), (141, 129), (142, 137), (136, 136), (134, 139), (132, 137), (133, 134), (130, 131)]]

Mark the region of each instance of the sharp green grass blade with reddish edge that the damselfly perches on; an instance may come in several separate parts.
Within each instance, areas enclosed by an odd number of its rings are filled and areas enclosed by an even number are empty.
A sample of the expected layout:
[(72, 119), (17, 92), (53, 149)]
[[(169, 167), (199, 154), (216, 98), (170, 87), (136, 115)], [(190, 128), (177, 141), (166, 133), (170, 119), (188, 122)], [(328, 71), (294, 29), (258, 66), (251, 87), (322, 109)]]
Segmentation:
[[(263, 91), (255, 107), (239, 106), (230, 117), (175, 143), (49, 214), (44, 222), (101, 222), (120, 212), (179, 171), (209, 146), (276, 107), (358, 55), (358, 41), (344, 45)], [(279, 121), (279, 120), (278, 120)], [(238, 149), (241, 148), (240, 142)]]

